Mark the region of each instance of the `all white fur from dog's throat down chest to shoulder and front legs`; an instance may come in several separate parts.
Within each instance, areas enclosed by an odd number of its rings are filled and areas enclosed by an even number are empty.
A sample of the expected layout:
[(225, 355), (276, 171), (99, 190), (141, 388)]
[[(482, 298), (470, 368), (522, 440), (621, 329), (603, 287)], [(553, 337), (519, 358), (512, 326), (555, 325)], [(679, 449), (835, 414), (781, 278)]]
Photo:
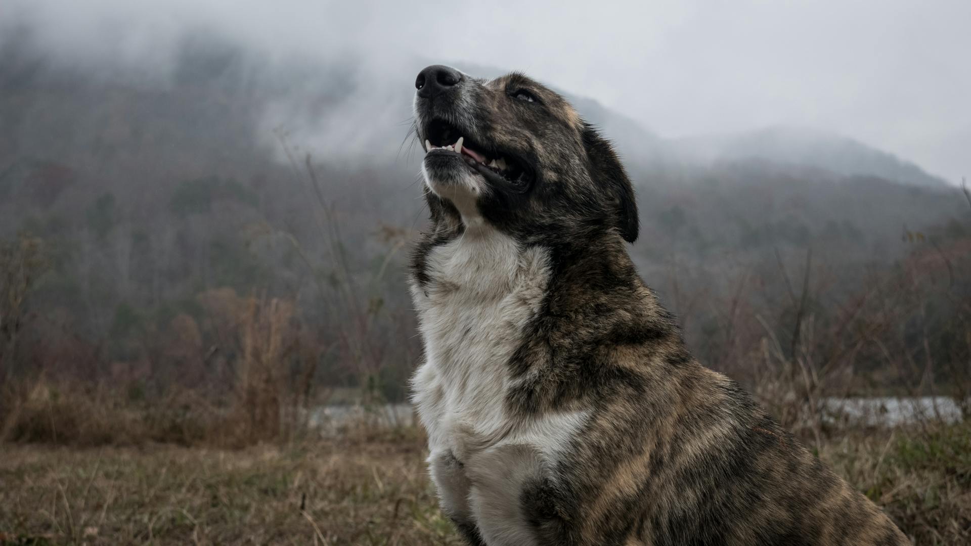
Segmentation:
[[(426, 358), (412, 383), (428, 431), (432, 479), (443, 508), (479, 525), (492, 537), (488, 544), (528, 544), (517, 542), (529, 532), (519, 514), (519, 486), (538, 471), (537, 461), (556, 461), (588, 418), (565, 412), (522, 420), (505, 410), (513, 384), (509, 360), (546, 294), (549, 253), (521, 249), (483, 221), (472, 186), (429, 188), (455, 192), (439, 194), (454, 197), (465, 224), (462, 235), (426, 257), (431, 282), (412, 288)], [(508, 460), (518, 453), (528, 461)], [(452, 455), (461, 467), (450, 462)], [(506, 471), (497, 461), (512, 466)], [(483, 477), (500, 475), (502, 487), (484, 485)], [(472, 476), (480, 477), (478, 485)]]

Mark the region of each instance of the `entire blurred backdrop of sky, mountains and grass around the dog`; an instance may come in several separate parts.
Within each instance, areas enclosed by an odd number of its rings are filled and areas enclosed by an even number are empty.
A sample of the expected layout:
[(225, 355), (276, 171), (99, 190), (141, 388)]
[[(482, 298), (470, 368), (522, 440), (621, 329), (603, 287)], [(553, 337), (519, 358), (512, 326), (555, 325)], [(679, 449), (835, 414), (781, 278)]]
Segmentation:
[(435, 63), (566, 94), (693, 353), (916, 543), (971, 540), (969, 20), (5, 0), (0, 543), (457, 543), (407, 404)]

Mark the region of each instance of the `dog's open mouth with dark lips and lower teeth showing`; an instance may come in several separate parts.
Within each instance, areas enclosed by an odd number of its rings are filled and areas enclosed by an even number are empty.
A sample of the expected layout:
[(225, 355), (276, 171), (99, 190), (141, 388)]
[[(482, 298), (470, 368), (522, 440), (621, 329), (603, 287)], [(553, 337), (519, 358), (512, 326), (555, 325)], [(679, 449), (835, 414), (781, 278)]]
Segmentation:
[(533, 181), (532, 170), (519, 156), (473, 142), (443, 119), (433, 119), (424, 134), (426, 154), (458, 155), (472, 170), (493, 184), (525, 191)]

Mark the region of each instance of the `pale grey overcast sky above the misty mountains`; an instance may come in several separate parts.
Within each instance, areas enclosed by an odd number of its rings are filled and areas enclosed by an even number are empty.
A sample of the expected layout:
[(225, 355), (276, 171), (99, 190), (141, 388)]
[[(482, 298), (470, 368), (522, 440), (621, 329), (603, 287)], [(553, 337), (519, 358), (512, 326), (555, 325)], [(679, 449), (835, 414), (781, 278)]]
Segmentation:
[(0, 0), (11, 16), (57, 51), (138, 65), (215, 26), (409, 77), (418, 55), (519, 69), (665, 137), (803, 125), (971, 176), (971, 0)]

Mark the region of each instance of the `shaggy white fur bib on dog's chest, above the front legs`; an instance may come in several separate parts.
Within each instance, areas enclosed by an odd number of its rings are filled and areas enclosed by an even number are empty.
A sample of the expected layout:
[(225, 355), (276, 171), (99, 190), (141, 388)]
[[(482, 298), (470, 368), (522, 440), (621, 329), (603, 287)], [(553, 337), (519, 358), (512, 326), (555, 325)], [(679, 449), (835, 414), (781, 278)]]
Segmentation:
[(425, 263), (432, 281), (413, 288), (425, 345), (415, 402), (431, 450), (460, 452), (452, 437), (460, 429), (485, 438), (510, 427), (503, 409), (508, 362), (542, 303), (549, 258), (479, 224), (432, 250)]

